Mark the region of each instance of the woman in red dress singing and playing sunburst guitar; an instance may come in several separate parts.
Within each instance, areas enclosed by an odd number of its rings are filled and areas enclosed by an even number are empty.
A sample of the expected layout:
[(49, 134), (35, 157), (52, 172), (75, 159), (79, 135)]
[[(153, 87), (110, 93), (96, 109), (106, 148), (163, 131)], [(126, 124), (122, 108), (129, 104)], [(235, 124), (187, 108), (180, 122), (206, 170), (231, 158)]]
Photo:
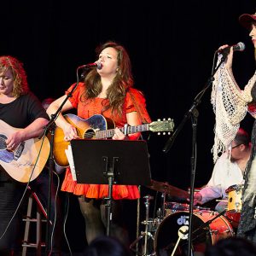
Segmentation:
[[(78, 116), (82, 119), (88, 119), (95, 114), (102, 114), (105, 118), (113, 119), (116, 125), (113, 140), (137, 140), (140, 137), (139, 132), (125, 136), (119, 130), (125, 124), (141, 125), (150, 122), (142, 92), (131, 88), (133, 79), (129, 55), (123, 46), (113, 42), (102, 44), (96, 49), (96, 52), (98, 55), (97, 67), (93, 68), (86, 75), (84, 81), (78, 84), (61, 112), (77, 108)], [(70, 86), (66, 94), (73, 89), (73, 86), (75, 84)], [(61, 96), (52, 102), (47, 113), (49, 115), (55, 113), (66, 97), (66, 95)], [(68, 123), (62, 114), (58, 116), (55, 123), (61, 127), (65, 141), (79, 137), (76, 128)], [(90, 170), (90, 166), (86, 166), (86, 168)], [(78, 195), (80, 209), (85, 219), (85, 233), (88, 243), (97, 236), (105, 235), (106, 208), (102, 199), (108, 197), (108, 185), (76, 183), (70, 169), (67, 168), (61, 189)], [(135, 185), (113, 185), (112, 196), (113, 217), (110, 234), (128, 244), (127, 232), (121, 224), (120, 209), (123, 199), (135, 200), (139, 198), (139, 190)]]

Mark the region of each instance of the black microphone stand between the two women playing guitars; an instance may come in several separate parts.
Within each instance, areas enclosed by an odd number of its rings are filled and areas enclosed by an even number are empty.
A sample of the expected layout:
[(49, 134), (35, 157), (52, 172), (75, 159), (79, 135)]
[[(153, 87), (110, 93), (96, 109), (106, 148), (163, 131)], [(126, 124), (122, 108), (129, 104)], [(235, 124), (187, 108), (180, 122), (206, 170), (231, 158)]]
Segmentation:
[[(50, 131), (50, 150), (49, 150), (49, 193), (48, 193), (48, 205), (47, 205), (47, 214), (48, 214), (48, 218), (47, 218), (47, 222), (46, 222), (46, 236), (45, 236), (45, 255), (48, 255), (47, 252), (50, 251), (51, 247), (50, 247), (50, 242), (49, 242), (49, 238), (50, 238), (50, 234), (49, 234), (49, 224), (50, 224), (50, 208), (51, 208), (51, 186), (52, 186), (52, 173), (54, 172), (54, 155), (53, 155), (53, 143), (54, 143), (54, 136), (55, 136), (55, 119), (58, 117), (58, 115), (61, 113), (61, 109), (63, 108), (63, 106), (65, 105), (65, 103), (67, 102), (67, 99), (73, 96), (73, 91), (77, 89), (78, 85), (79, 85), (79, 68), (77, 68), (77, 83), (73, 86), (73, 89), (67, 94), (66, 98), (64, 99), (64, 101), (61, 103), (61, 106), (56, 110), (55, 113), (51, 114), (51, 118), (49, 120), (49, 123), (47, 125), (44, 126), (44, 131), (42, 132), (42, 134), (38, 137), (39, 139), (42, 138), (44, 136), (44, 134), (46, 135), (48, 131)], [(83, 77), (84, 78), (84, 77)]]

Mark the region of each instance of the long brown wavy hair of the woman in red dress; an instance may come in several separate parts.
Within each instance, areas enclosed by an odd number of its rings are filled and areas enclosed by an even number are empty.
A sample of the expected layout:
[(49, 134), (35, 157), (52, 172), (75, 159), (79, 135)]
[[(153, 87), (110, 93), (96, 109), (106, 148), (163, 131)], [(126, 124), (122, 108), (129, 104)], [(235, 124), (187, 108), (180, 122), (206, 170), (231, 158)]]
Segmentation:
[[(126, 91), (133, 86), (133, 77), (131, 73), (131, 61), (125, 48), (114, 42), (107, 42), (96, 48), (97, 57), (101, 54), (102, 50), (111, 47), (116, 49), (118, 55), (118, 71), (113, 79), (112, 84), (107, 90), (108, 104), (105, 103), (103, 111), (112, 109), (112, 113), (123, 113), (123, 104), (125, 102)], [(100, 75), (96, 72), (96, 69), (92, 69), (90, 73), (85, 77), (84, 84), (86, 84), (86, 90), (81, 96), (81, 102), (92, 100), (98, 96), (102, 91), (102, 81)]]

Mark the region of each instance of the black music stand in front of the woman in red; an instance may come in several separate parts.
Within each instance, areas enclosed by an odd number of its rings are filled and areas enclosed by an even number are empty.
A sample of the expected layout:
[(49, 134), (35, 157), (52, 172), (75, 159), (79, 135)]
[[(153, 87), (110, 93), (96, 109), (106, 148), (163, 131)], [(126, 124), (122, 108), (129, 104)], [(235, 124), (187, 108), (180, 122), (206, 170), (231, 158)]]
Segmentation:
[(145, 141), (72, 140), (77, 183), (108, 184), (109, 236), (113, 184), (151, 184), (148, 147)]

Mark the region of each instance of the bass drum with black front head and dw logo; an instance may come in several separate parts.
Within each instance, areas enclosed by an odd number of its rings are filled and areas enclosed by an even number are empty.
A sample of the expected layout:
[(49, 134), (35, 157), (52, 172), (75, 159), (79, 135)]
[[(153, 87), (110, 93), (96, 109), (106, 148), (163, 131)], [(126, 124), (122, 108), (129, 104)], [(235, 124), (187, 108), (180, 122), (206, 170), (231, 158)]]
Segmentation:
[[(206, 224), (208, 220), (217, 215), (218, 212), (211, 211), (194, 212), (192, 216), (191, 248), (195, 255), (203, 255), (206, 246), (216, 243), (219, 239), (234, 236), (232, 226), (223, 216), (219, 216), (212, 223)], [(181, 237), (173, 255), (188, 255), (188, 234), (182, 235), (184, 231), (188, 230), (188, 226), (189, 212), (174, 212), (164, 218), (155, 232), (155, 254), (158, 256), (172, 255), (178, 238)]]

